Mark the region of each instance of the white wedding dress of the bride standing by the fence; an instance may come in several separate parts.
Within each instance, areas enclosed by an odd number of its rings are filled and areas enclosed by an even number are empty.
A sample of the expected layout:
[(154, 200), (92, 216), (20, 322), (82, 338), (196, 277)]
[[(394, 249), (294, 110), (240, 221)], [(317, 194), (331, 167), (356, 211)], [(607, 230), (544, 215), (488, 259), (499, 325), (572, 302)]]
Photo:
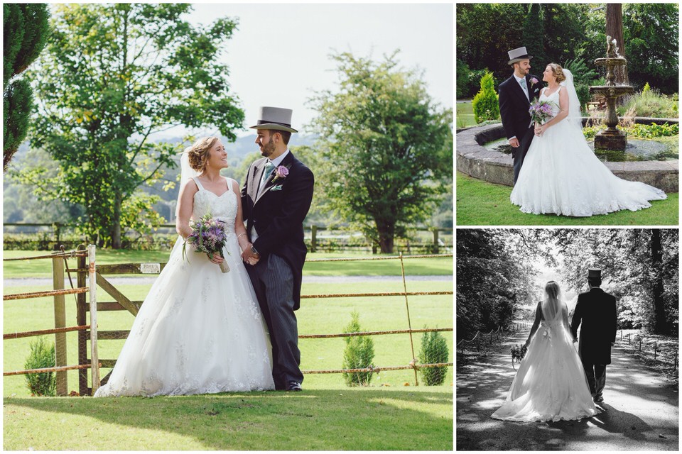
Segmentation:
[(227, 223), (230, 271), (178, 238), (137, 314), (109, 382), (95, 397), (205, 394), (274, 389), (271, 345), (234, 234), (237, 197), (200, 188), (193, 218)]

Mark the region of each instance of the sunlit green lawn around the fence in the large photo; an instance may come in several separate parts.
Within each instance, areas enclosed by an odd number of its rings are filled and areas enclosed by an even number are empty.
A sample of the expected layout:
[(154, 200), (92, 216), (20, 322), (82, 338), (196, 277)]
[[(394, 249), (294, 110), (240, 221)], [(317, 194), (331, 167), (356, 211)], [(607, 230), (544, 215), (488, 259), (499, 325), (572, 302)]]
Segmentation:
[[(26, 256), (26, 251), (6, 251)], [(101, 252), (101, 253), (100, 253)], [(38, 253), (33, 253), (36, 255)], [(168, 253), (98, 251), (100, 262), (166, 260)], [(312, 255), (315, 257), (315, 255)], [(36, 262), (43, 262), (42, 260)], [(31, 263), (36, 263), (31, 262)], [(46, 260), (49, 264), (49, 260)], [(6, 262), (5, 275), (34, 275), (36, 270)], [(9, 265), (9, 267), (7, 266)], [(396, 275), (399, 261), (333, 262), (306, 268), (320, 275)], [(315, 265), (315, 266), (313, 266)], [(40, 265), (41, 267), (43, 265)], [(41, 276), (49, 273), (46, 265)], [(310, 272), (310, 269), (308, 269)], [(408, 259), (406, 273), (452, 275), (452, 258)], [(312, 273), (311, 273), (312, 274)], [(408, 291), (453, 291), (453, 282), (407, 283)], [(119, 286), (130, 299), (144, 299), (151, 284)], [(36, 287), (4, 286), (4, 294)], [(400, 292), (402, 282), (304, 284), (302, 294)], [(104, 292), (99, 292), (104, 299)], [(108, 296), (106, 301), (112, 299)], [(6, 301), (4, 333), (54, 326), (50, 298)], [(75, 324), (75, 301), (66, 297), (67, 325)], [(406, 329), (404, 297), (303, 299), (297, 311), (300, 334), (340, 333), (350, 312), (360, 314), (363, 329)], [(413, 328), (453, 327), (453, 296), (409, 297)], [(99, 312), (100, 330), (126, 330), (133, 316)], [(453, 333), (443, 333), (453, 362)], [(51, 336), (49, 337), (52, 338)], [(407, 365), (413, 358), (406, 334), (373, 336), (374, 364)], [(415, 354), (421, 335), (414, 335)], [(5, 371), (23, 369), (30, 338), (4, 341)], [(99, 357), (116, 358), (124, 341), (99, 341)], [(342, 338), (301, 339), (301, 369), (342, 368)], [(67, 333), (67, 362), (77, 362), (77, 338)], [(109, 370), (102, 370), (102, 376)], [(411, 370), (375, 375), (369, 387), (346, 387), (341, 375), (308, 374), (301, 393), (254, 392), (189, 397), (92, 399), (29, 397), (23, 376), (5, 377), (4, 449), (6, 450), (452, 450), (453, 371), (445, 384), (415, 386)], [(77, 372), (67, 372), (68, 390), (77, 390)], [(303, 429), (305, 427), (305, 429)]]

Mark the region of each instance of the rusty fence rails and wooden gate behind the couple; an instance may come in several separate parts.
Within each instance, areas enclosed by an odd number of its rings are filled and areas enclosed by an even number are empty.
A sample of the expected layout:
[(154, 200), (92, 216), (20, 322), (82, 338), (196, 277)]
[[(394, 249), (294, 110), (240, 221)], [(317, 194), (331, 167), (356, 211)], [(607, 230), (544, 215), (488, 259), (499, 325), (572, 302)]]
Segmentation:
[[(410, 346), (411, 346), (411, 358), (412, 361), (409, 365), (403, 366), (389, 366), (389, 367), (379, 367), (372, 366), (365, 369), (357, 370), (307, 370), (304, 373), (315, 374), (315, 373), (343, 373), (343, 372), (379, 372), (380, 370), (408, 370), (414, 371), (415, 384), (418, 384), (417, 371), (425, 367), (448, 367), (452, 366), (451, 362), (440, 362), (434, 364), (417, 364), (414, 353), (413, 345), (413, 333), (426, 333), (435, 331), (453, 331), (453, 328), (423, 328), (423, 329), (413, 329), (411, 326), (411, 317), (409, 315), (409, 304), (408, 297), (413, 296), (433, 296), (433, 295), (452, 295), (453, 292), (408, 292), (406, 286), (405, 277), (405, 267), (404, 260), (408, 259), (422, 259), (422, 258), (448, 258), (453, 257), (452, 254), (428, 254), (428, 255), (408, 255), (405, 256), (402, 253), (396, 256), (382, 256), (382, 257), (369, 257), (369, 258), (331, 258), (331, 259), (310, 259), (310, 262), (347, 262), (347, 261), (359, 261), (359, 260), (399, 260), (401, 265), (401, 276), (403, 280), (403, 292), (374, 292), (374, 293), (348, 293), (348, 294), (311, 294), (311, 295), (301, 295), (301, 298), (310, 299), (325, 299), (325, 298), (348, 298), (348, 297), (404, 297), (405, 299), (405, 309), (406, 318), (408, 321), (408, 329), (406, 330), (392, 330), (392, 331), (364, 331), (362, 333), (332, 333), (332, 334), (308, 334), (301, 335), (299, 338), (343, 338), (350, 336), (379, 336), (379, 335), (389, 335), (389, 334), (408, 334), (410, 336)], [(100, 359), (97, 354), (97, 341), (98, 340), (112, 340), (112, 339), (125, 339), (129, 335), (129, 331), (118, 330), (118, 331), (97, 331), (97, 313), (98, 311), (129, 311), (131, 314), (136, 315), (139, 311), (142, 301), (131, 301), (122, 292), (120, 292), (113, 284), (111, 284), (103, 276), (104, 274), (158, 274), (163, 270), (166, 263), (128, 263), (128, 264), (117, 264), (117, 265), (98, 265), (94, 264), (95, 250), (94, 246), (88, 246), (87, 251), (85, 246), (81, 245), (75, 251), (69, 253), (65, 252), (62, 247), (60, 253), (54, 253), (50, 255), (41, 255), (38, 257), (27, 257), (18, 259), (6, 259), (6, 260), (35, 260), (40, 258), (51, 258), (53, 260), (53, 282), (54, 289), (50, 292), (31, 292), (28, 294), (15, 294), (6, 295), (4, 299), (6, 301), (13, 299), (25, 299), (33, 297), (45, 297), (53, 296), (55, 298), (55, 328), (52, 330), (41, 330), (41, 331), (26, 331), (24, 333), (6, 333), (4, 334), (4, 339), (11, 338), (23, 338), (29, 336), (40, 336), (44, 334), (52, 334), (55, 336), (60, 336), (57, 338), (57, 343), (55, 345), (55, 350), (57, 350), (57, 365), (56, 367), (49, 368), (50, 371), (58, 373), (58, 395), (65, 395), (67, 393), (66, 384), (66, 371), (67, 370), (80, 370), (79, 372), (79, 391), (80, 395), (94, 394), (100, 384), (104, 384), (108, 380), (107, 377), (100, 380), (99, 378), (99, 367), (114, 367), (116, 360), (106, 360)], [(76, 258), (76, 267), (69, 268), (66, 259)], [(86, 259), (89, 260), (89, 266), (86, 266)], [(65, 266), (66, 265), (66, 266)], [(77, 276), (77, 287), (72, 289), (63, 289), (64, 284), (64, 271), (75, 272)], [(69, 274), (70, 276), (70, 274)], [(89, 280), (89, 285), (86, 284), (86, 280)], [(107, 292), (109, 296), (114, 298), (114, 301), (97, 301), (96, 289), (99, 286), (104, 292)], [(73, 287), (73, 284), (72, 284)], [(85, 293), (90, 293), (90, 304), (85, 301)], [(76, 295), (76, 307), (77, 307), (77, 326), (65, 326), (65, 309), (64, 309), (64, 295), (75, 294)], [(90, 312), (90, 323), (86, 323), (87, 317), (86, 313)], [(70, 331), (77, 331), (78, 333), (78, 365), (66, 365), (66, 345), (65, 345), (65, 333)], [(88, 339), (89, 338), (89, 339)], [(87, 345), (88, 340), (90, 341), (90, 356), (87, 358)], [(92, 367), (93, 364), (97, 364), (98, 367)], [(92, 387), (87, 386), (87, 370), (90, 369), (92, 374)], [(18, 375), (21, 373), (36, 373), (36, 370), (24, 370), (15, 372), (4, 372), (4, 375)], [(48, 370), (41, 370), (43, 372), (48, 372)], [(59, 380), (59, 379), (62, 380)]]

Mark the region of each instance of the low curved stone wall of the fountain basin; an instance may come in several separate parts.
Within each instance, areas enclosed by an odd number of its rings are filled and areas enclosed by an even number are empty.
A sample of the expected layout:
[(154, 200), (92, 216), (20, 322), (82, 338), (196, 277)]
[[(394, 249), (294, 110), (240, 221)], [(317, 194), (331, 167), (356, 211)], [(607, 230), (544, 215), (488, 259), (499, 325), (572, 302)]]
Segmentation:
[[(583, 122), (587, 118), (583, 118)], [(635, 123), (678, 123), (677, 118), (635, 118)], [(514, 163), (511, 155), (487, 150), (485, 143), (504, 138), (502, 124), (475, 126), (458, 131), (455, 135), (455, 159), (458, 172), (505, 186), (514, 185)], [(611, 172), (622, 179), (644, 182), (678, 192), (679, 160), (605, 162)]]

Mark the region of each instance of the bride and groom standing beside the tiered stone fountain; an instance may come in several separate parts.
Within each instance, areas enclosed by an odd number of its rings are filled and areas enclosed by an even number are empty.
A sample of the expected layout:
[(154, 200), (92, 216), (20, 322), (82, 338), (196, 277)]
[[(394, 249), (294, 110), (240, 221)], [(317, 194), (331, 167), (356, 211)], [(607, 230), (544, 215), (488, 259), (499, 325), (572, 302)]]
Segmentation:
[[(542, 87), (529, 74), (526, 48), (509, 52), (514, 74), (499, 84), (499, 112), (514, 159), (511, 203), (524, 213), (592, 216), (651, 206), (666, 199), (661, 189), (620, 179), (592, 152), (583, 135), (573, 74), (556, 63), (546, 66)], [(551, 106), (543, 124), (531, 120), (534, 99)]]

